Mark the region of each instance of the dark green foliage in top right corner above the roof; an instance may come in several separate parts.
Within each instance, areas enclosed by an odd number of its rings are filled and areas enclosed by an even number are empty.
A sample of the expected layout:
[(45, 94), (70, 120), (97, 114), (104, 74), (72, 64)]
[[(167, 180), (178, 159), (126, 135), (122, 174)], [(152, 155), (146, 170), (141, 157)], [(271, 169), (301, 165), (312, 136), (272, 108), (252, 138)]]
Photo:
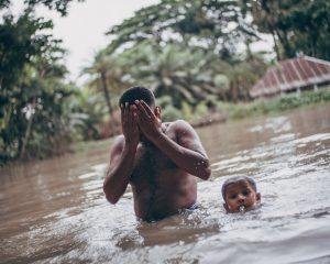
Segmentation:
[(272, 34), (277, 58), (305, 54), (330, 61), (330, 1), (242, 1), (258, 32)]

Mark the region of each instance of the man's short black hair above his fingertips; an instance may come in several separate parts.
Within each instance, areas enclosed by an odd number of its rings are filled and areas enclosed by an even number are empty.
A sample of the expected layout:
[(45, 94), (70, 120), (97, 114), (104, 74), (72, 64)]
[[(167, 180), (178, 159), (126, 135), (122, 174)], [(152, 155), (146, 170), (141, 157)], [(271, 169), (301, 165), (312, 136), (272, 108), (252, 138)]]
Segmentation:
[(125, 102), (129, 105), (134, 105), (135, 100), (143, 100), (150, 107), (155, 106), (154, 94), (150, 89), (142, 86), (134, 86), (127, 89), (119, 99), (119, 106), (124, 105)]

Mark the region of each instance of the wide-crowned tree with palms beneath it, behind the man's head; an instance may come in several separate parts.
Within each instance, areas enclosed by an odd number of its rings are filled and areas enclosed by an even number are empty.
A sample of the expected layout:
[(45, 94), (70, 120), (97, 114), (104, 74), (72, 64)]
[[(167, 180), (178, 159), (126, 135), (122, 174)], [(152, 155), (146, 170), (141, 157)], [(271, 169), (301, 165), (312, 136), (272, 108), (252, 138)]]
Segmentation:
[(117, 57), (127, 84), (170, 94), (170, 109), (249, 100), (266, 63), (250, 50), (260, 37), (243, 14), (239, 1), (161, 1), (111, 28), (102, 52)]

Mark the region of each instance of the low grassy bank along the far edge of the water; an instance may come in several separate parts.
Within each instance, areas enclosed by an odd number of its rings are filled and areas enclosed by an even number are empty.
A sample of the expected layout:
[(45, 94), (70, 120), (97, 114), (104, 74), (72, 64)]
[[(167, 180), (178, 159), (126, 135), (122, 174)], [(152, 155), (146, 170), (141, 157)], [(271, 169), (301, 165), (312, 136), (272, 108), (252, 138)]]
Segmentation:
[[(299, 96), (292, 94), (284, 97), (274, 97), (267, 99), (256, 99), (250, 102), (240, 103), (223, 103), (220, 102), (218, 109), (210, 114), (202, 117), (196, 121), (188, 121), (195, 129), (212, 125), (216, 123), (226, 123), (233, 120), (242, 120), (249, 118), (266, 117), (271, 114), (278, 114), (288, 112), (295, 109), (304, 109), (307, 107), (329, 103), (330, 88), (319, 91), (304, 91)], [(117, 136), (117, 135), (114, 135)], [(114, 136), (102, 139), (99, 141), (81, 141), (74, 142), (69, 145), (68, 151), (63, 155), (69, 153), (75, 154), (85, 152), (87, 148), (96, 148), (98, 145), (111, 143)], [(54, 155), (45, 158), (31, 158), (26, 161), (14, 160), (2, 165), (1, 168), (9, 166), (21, 165), (30, 162), (45, 161), (63, 155)]]

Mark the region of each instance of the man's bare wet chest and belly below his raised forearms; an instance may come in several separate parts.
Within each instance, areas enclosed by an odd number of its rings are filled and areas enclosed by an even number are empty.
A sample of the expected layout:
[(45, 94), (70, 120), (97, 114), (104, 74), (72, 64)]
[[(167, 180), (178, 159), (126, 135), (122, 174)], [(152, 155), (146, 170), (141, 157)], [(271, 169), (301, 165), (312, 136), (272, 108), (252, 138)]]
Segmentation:
[[(170, 124), (163, 132), (175, 141)], [(130, 183), (135, 215), (144, 220), (158, 220), (196, 202), (196, 178), (178, 168), (151, 142), (138, 146)]]

